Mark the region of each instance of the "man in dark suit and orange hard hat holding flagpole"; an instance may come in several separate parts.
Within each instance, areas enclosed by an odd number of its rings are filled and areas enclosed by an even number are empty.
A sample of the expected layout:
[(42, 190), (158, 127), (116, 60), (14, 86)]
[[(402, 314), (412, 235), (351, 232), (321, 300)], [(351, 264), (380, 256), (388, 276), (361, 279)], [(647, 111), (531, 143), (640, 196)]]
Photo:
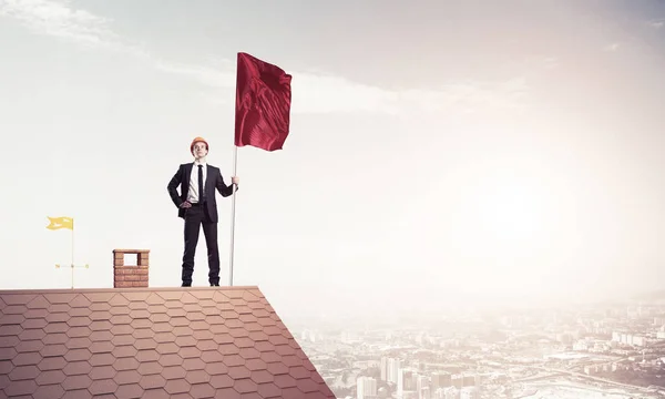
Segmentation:
[[(217, 201), (215, 188), (223, 197), (233, 195), (238, 190), (238, 178), (232, 177), (232, 184), (226, 185), (218, 167), (208, 165), (205, 157), (208, 144), (202, 137), (196, 137), (190, 145), (194, 162), (180, 165), (171, 182), (168, 195), (178, 207), (177, 216), (185, 219), (185, 252), (183, 255), (183, 287), (192, 286), (194, 273), (194, 254), (198, 243), (198, 233), (203, 225), (205, 244), (208, 250), (208, 282), (211, 287), (219, 286), (219, 248), (217, 246)], [(180, 185), (181, 193), (176, 187)]]

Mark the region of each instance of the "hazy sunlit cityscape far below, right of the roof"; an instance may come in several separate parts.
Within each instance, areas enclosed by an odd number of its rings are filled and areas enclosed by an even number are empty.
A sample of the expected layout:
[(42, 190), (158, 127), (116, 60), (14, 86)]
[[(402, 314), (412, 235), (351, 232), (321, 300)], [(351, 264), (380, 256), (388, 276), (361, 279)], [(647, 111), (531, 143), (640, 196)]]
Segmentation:
[[(314, 325), (314, 323), (313, 323)], [(665, 293), (303, 327), (338, 398), (637, 399), (665, 396)]]

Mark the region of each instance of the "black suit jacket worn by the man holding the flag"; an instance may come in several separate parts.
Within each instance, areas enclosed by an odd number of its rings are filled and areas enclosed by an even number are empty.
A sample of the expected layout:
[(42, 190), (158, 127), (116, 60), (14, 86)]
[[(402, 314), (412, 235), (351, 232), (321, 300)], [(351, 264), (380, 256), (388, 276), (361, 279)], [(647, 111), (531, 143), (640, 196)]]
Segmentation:
[[(168, 182), (168, 195), (171, 200), (177, 206), (177, 216), (185, 218), (185, 208), (181, 207), (181, 204), (187, 201), (187, 193), (190, 192), (190, 176), (192, 176), (192, 167), (194, 166), (193, 162), (187, 164), (182, 164), (177, 168), (177, 172)], [(222, 194), (223, 197), (227, 197), (233, 194), (233, 184), (226, 185), (224, 183), (224, 177), (222, 177), (222, 172), (219, 172), (218, 167), (207, 165), (206, 178), (204, 184), (204, 191), (207, 193), (206, 196), (206, 208), (208, 215), (211, 216), (211, 222), (217, 223), (219, 221), (219, 216), (217, 215), (217, 200), (215, 195), (215, 188)], [(181, 187), (180, 195), (177, 194), (177, 186)], [(237, 191), (238, 187), (236, 186)]]

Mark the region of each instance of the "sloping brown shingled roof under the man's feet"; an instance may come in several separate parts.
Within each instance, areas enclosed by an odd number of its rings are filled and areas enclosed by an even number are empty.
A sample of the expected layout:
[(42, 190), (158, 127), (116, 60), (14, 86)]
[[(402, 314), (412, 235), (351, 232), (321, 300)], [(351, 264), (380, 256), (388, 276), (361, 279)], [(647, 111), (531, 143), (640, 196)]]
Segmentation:
[(0, 290), (0, 397), (335, 398), (257, 287)]

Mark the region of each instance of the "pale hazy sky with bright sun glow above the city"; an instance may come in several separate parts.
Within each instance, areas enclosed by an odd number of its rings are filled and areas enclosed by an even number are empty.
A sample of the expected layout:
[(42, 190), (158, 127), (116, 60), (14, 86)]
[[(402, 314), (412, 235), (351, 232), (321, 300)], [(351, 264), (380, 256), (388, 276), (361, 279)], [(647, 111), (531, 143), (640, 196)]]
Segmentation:
[[(238, 151), (235, 285), (285, 318), (663, 287), (665, 2), (0, 0), (0, 288), (178, 286), (166, 193), (233, 172), (238, 51), (293, 74)], [(219, 198), (222, 284), (231, 198)], [(207, 284), (200, 241), (194, 285)], [(614, 294), (613, 294), (614, 293)]]

